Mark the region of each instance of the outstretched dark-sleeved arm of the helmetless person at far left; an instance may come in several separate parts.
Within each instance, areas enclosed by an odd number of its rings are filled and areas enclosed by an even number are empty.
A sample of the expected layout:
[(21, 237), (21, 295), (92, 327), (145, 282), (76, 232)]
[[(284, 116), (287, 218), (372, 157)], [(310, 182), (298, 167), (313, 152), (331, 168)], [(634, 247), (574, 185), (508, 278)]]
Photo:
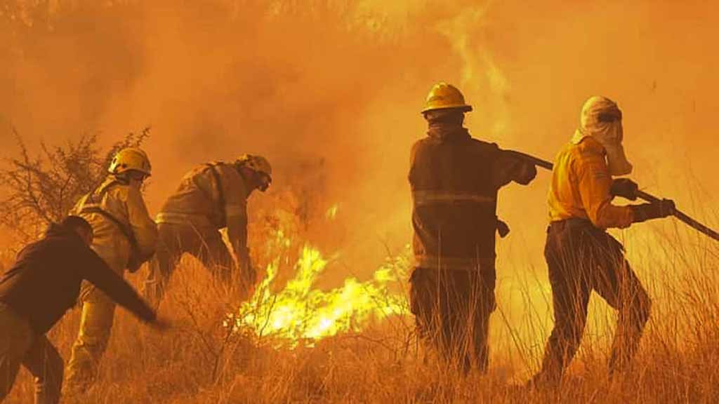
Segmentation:
[(78, 253), (78, 257), (82, 257), (81, 259), (83, 260), (82, 265), (79, 267), (83, 270), (85, 280), (102, 290), (115, 303), (127, 308), (130, 313), (140, 320), (147, 323), (155, 322), (155, 311), (137, 295), (137, 292), (129, 283), (111, 270), (96, 252), (85, 247), (83, 251)]

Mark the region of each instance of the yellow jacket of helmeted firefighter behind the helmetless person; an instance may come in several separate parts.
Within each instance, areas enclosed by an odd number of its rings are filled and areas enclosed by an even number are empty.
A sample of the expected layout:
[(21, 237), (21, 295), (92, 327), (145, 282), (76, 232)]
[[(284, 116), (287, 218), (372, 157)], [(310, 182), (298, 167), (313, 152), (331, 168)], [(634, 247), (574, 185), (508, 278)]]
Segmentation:
[[(141, 257), (152, 257), (157, 244), (157, 225), (147, 211), (139, 187), (129, 185), (127, 182), (109, 175), (95, 194), (101, 195), (101, 199), (97, 203), (98, 208), (120, 221), (126, 229), (132, 230)], [(83, 208), (91, 204), (88, 203), (91, 195), (92, 193), (83, 196), (73, 208), (73, 212), (91, 224), (94, 233), (92, 249), (113, 270), (122, 272), (129, 261), (130, 242), (122, 230), (105, 216), (96, 213), (80, 213)]]

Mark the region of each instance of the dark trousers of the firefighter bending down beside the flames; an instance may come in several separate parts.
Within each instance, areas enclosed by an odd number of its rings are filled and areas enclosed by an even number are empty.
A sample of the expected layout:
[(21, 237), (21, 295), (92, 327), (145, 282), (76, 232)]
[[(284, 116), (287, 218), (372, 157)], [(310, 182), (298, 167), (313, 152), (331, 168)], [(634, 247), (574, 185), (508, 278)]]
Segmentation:
[(200, 260), (217, 280), (229, 285), (236, 265), (219, 231), (165, 223), (158, 224), (157, 231), (157, 252), (150, 262), (144, 289), (152, 306), (159, 306), (170, 276), (186, 252)]

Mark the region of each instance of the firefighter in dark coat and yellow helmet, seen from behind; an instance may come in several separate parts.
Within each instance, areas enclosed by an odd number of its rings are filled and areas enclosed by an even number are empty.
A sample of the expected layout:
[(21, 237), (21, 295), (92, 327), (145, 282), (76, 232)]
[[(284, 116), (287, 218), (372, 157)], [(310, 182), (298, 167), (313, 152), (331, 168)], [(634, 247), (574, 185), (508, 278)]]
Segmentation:
[(457, 88), (439, 83), (422, 114), (427, 136), (411, 150), (413, 199), (411, 311), (423, 339), (465, 372), (488, 364), (487, 333), (495, 309), (498, 190), (527, 185), (536, 167), (464, 129), (472, 106)]

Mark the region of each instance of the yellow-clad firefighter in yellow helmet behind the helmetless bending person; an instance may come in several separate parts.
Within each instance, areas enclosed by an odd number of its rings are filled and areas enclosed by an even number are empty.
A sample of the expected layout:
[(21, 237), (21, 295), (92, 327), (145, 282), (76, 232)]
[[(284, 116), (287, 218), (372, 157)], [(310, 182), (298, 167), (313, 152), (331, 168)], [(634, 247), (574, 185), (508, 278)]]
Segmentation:
[[(157, 226), (147, 212), (141, 186), (150, 176), (150, 160), (137, 148), (120, 150), (104, 183), (83, 196), (74, 214), (88, 221), (95, 237), (92, 249), (117, 274), (137, 270), (155, 253)], [(89, 283), (81, 290), (82, 318), (73, 344), (66, 388), (80, 392), (96, 377), (110, 338), (115, 303)]]

